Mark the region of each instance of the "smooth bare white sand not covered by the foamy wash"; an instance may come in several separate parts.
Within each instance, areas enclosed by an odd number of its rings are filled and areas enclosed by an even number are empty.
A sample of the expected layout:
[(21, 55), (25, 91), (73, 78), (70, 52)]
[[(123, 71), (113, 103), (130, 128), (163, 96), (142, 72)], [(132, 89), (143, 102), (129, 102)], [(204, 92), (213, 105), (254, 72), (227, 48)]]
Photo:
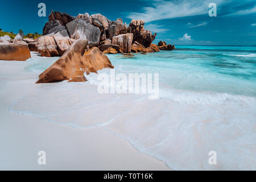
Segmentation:
[[(26, 66), (23, 61), (0, 61), (1, 170), (170, 169), (101, 127), (75, 129), (32, 115), (11, 113), (9, 107), (15, 101), (38, 92), (42, 86), (35, 84), (36, 73), (24, 72)], [(38, 151), (46, 151), (46, 165), (38, 164)]]

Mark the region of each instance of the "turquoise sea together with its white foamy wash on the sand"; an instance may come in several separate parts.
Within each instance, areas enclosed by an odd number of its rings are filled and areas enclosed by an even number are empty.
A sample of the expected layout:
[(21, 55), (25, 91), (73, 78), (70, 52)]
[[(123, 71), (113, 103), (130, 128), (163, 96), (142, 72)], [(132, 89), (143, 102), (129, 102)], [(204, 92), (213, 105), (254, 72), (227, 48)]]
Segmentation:
[[(256, 47), (176, 47), (133, 58), (108, 55), (116, 75), (159, 73), (157, 100), (100, 94), (91, 73), (88, 82), (37, 85), (9, 111), (76, 129), (102, 127), (171, 169), (255, 170)], [(32, 55), (25, 69), (37, 78), (57, 59)], [(217, 152), (217, 166), (209, 165), (209, 151)]]

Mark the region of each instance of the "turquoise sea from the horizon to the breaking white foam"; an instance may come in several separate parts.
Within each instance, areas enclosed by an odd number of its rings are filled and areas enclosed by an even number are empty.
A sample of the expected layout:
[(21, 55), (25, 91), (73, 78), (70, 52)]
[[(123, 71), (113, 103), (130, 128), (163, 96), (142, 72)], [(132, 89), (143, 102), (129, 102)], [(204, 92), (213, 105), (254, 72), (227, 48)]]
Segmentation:
[(159, 89), (165, 93), (172, 88), (256, 97), (256, 47), (176, 46), (133, 59), (109, 59), (117, 73), (159, 73)]

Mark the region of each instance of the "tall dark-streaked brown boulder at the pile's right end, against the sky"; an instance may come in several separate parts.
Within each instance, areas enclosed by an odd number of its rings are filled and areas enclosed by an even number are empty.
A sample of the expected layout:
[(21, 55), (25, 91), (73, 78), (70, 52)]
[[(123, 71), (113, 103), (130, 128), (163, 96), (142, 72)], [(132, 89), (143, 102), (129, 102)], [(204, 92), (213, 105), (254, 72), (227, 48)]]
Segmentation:
[(144, 30), (144, 24), (143, 20), (131, 20), (129, 27), (131, 27), (131, 32), (134, 35), (134, 42), (137, 41), (144, 47), (150, 47), (151, 43), (155, 39), (156, 33), (152, 35), (150, 31)]

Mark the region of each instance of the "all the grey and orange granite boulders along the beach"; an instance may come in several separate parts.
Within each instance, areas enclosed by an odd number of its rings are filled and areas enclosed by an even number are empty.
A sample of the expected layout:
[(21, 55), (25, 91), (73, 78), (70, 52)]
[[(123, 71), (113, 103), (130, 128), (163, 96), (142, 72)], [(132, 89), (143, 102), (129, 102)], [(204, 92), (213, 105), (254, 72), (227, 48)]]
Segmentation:
[(39, 75), (36, 83), (68, 80), (86, 81), (84, 73), (97, 73), (103, 68), (114, 68), (105, 54), (123, 53), (133, 57), (131, 52), (159, 52), (173, 50), (166, 42), (152, 44), (156, 34), (144, 30), (142, 20), (131, 20), (129, 26), (121, 18), (111, 21), (101, 14), (79, 14), (52, 11), (38, 39), (23, 39), (22, 34), (14, 40), (6, 35), (0, 38), (0, 60), (25, 61), (30, 51), (41, 56), (60, 58)]

